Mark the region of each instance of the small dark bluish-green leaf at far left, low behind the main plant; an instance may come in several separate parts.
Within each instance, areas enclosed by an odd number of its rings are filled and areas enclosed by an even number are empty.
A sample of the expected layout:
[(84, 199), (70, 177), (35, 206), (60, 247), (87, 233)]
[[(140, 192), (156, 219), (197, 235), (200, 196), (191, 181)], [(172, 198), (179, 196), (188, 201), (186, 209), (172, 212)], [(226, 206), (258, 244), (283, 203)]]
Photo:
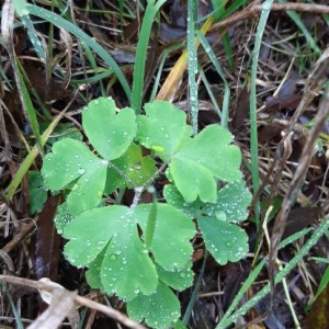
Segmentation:
[(47, 200), (47, 189), (38, 171), (29, 171), (29, 201), (31, 214), (39, 213)]

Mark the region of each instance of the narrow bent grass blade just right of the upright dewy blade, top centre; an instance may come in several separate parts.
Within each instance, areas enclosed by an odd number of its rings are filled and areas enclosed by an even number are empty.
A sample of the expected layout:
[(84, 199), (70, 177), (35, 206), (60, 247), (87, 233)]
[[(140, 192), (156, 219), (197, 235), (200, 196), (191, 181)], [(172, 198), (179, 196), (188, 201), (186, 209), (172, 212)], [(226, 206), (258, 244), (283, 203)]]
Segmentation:
[(228, 123), (228, 114), (229, 114), (229, 98), (230, 98), (230, 89), (229, 89), (229, 84), (225, 78), (225, 75), (223, 72), (223, 69), (217, 60), (217, 57), (212, 48), (212, 46), (209, 45), (209, 43), (207, 42), (207, 39), (205, 38), (205, 36), (201, 33), (197, 32), (196, 33), (202, 46), (204, 47), (205, 52), (207, 53), (209, 59), (212, 60), (215, 69), (217, 70), (219, 77), (222, 78), (223, 82), (224, 82), (224, 100), (223, 100), (223, 110), (222, 110), (222, 126), (227, 128), (227, 123)]

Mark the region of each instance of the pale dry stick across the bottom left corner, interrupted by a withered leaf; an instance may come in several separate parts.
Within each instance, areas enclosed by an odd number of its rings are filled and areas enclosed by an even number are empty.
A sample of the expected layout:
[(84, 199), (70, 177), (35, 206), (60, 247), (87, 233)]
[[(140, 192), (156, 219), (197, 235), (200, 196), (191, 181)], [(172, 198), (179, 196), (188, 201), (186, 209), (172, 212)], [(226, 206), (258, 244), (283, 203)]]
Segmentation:
[[(18, 276), (11, 276), (11, 275), (0, 275), (0, 282), (12, 283), (12, 284), (22, 285), (25, 287), (29, 286), (29, 287), (32, 287), (32, 288), (35, 288), (38, 291), (46, 291), (46, 292), (50, 292), (50, 293), (53, 293), (56, 290), (63, 290), (61, 287), (57, 287), (57, 286), (54, 286), (54, 285), (50, 285), (50, 284), (47, 284), (44, 282), (33, 281), (33, 280), (18, 277)], [(97, 303), (94, 300), (90, 300), (86, 297), (78, 296), (78, 295), (75, 296), (75, 302), (81, 306), (86, 306), (86, 307), (92, 308), (94, 310), (98, 310), (128, 328), (146, 329), (140, 324), (133, 321), (124, 314), (122, 314), (118, 310), (113, 309), (112, 307), (109, 307), (106, 305)]]

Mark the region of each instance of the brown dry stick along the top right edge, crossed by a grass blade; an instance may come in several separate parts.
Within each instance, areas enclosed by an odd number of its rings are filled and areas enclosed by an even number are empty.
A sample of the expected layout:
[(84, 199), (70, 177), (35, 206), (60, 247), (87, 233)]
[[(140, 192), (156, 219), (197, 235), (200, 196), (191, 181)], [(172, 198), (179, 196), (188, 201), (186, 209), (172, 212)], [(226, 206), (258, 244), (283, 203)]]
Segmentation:
[[(234, 13), (232, 15), (228, 16), (227, 19), (223, 20), (214, 24), (211, 27), (211, 31), (218, 30), (219, 27), (226, 27), (232, 25), (239, 21), (246, 19), (253, 19), (262, 11), (262, 4), (253, 4), (246, 7), (245, 10)], [(325, 4), (310, 4), (310, 3), (273, 3), (271, 7), (271, 11), (302, 11), (302, 12), (311, 12), (311, 13), (319, 13), (319, 14), (329, 14), (329, 5)]]

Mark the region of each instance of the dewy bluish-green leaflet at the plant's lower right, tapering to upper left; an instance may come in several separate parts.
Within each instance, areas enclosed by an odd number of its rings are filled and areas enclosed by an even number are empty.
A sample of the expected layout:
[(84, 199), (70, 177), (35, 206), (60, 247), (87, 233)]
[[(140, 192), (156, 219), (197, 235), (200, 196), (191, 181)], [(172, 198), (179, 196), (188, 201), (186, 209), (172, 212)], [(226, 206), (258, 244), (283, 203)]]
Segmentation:
[(207, 250), (220, 265), (237, 262), (246, 256), (248, 236), (242, 228), (215, 217), (201, 217), (197, 224)]

